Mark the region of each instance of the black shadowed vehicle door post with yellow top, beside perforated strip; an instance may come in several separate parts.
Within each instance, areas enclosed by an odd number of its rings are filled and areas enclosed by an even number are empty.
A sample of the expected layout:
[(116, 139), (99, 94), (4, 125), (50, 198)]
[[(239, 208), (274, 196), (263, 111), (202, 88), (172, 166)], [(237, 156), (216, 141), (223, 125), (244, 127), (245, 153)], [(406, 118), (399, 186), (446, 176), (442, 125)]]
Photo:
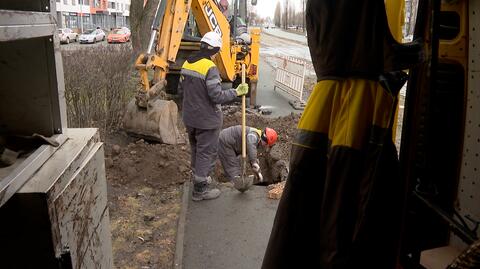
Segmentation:
[[(419, 23), (423, 28), (417, 27), (416, 35), (428, 32), (423, 38), (429, 59), (410, 70), (400, 155), (412, 194), (402, 251), (405, 268), (417, 268), (421, 251), (448, 244), (455, 226), (465, 123), (468, 1), (423, 2), (431, 4), (433, 16), (420, 10), (418, 19), (426, 16), (433, 27)], [(453, 230), (471, 240), (461, 227)]]

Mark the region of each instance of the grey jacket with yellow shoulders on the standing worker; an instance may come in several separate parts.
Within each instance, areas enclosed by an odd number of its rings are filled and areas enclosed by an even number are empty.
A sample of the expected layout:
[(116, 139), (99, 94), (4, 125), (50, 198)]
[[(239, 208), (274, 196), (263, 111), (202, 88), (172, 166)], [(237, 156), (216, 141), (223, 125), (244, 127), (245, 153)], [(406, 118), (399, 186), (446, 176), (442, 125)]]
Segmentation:
[(182, 66), (179, 93), (183, 95), (182, 117), (185, 125), (198, 129), (217, 129), (223, 124), (221, 105), (232, 101), (235, 89), (222, 90), (218, 68), (210, 59)]

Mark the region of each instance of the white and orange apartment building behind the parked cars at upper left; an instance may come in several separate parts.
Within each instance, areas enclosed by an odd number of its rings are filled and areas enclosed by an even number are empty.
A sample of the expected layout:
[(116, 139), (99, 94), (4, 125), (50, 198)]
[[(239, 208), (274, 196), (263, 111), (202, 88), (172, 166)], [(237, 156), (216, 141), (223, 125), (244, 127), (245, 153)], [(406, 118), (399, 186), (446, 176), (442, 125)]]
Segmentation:
[(130, 0), (56, 0), (57, 25), (77, 32), (129, 26)]

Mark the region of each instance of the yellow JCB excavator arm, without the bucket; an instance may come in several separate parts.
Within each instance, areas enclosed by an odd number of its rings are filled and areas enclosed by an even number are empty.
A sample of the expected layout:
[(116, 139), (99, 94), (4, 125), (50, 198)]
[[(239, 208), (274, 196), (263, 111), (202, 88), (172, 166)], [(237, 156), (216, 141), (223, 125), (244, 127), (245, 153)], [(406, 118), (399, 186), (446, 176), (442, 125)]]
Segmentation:
[[(249, 53), (242, 60), (237, 60), (237, 54), (245, 51), (244, 46), (236, 45), (230, 35), (230, 25), (213, 0), (161, 0), (159, 2), (155, 21), (161, 20), (160, 26), (152, 27), (152, 35), (147, 53), (141, 54), (135, 63), (140, 71), (144, 91), (150, 89), (148, 70), (155, 70), (153, 82), (165, 80), (170, 64), (175, 63), (185, 25), (189, 14), (193, 15), (200, 34), (215, 31), (222, 36), (223, 47), (214, 62), (223, 79), (233, 81), (241, 72), (241, 64), (247, 66), (250, 81), (257, 80), (260, 31), (251, 32), (252, 44)], [(157, 40), (155, 48), (152, 46)], [(252, 66), (253, 65), (253, 66)]]

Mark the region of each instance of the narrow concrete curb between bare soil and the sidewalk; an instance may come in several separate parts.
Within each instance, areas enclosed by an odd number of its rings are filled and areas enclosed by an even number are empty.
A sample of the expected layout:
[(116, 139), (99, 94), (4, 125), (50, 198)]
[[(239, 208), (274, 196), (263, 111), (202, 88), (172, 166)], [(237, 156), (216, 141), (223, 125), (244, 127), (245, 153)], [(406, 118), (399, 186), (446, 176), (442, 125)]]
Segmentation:
[(175, 241), (175, 256), (173, 268), (183, 269), (183, 244), (185, 240), (185, 224), (187, 220), (188, 203), (190, 201), (190, 181), (183, 184), (182, 208), (178, 216), (177, 237)]

